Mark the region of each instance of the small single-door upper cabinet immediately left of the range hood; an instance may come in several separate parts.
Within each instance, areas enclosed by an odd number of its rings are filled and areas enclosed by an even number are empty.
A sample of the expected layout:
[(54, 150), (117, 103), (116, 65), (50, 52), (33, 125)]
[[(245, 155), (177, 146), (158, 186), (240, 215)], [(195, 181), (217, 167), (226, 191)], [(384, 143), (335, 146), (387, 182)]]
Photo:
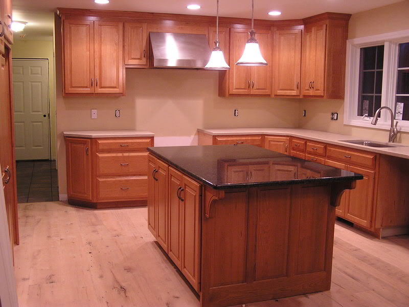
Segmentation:
[(148, 30), (146, 23), (124, 24), (125, 67), (148, 67)]

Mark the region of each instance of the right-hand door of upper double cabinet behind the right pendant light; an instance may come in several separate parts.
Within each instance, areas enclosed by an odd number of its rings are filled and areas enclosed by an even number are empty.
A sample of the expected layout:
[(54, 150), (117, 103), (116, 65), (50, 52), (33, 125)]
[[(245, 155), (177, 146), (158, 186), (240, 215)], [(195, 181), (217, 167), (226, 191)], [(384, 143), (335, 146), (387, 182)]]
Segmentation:
[(261, 55), (267, 61), (267, 65), (252, 67), (251, 94), (271, 95), (271, 32), (265, 30), (256, 32)]

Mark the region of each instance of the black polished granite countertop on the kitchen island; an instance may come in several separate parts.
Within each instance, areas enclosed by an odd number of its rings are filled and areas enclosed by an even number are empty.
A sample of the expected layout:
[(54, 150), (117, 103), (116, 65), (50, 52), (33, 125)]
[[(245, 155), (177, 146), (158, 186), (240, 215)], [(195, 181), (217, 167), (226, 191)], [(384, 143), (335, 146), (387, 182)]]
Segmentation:
[(360, 174), (252, 145), (148, 147), (148, 151), (213, 189), (363, 179)]

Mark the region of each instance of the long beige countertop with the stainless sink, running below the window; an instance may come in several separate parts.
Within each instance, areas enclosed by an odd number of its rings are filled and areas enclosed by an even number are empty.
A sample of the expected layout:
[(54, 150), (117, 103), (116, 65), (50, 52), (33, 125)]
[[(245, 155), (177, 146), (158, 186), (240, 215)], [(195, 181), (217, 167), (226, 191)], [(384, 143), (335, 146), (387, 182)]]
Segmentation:
[[(361, 138), (347, 136), (342, 134), (328, 133), (324, 131), (308, 130), (301, 128), (212, 128), (212, 129), (197, 129), (198, 131), (211, 136), (226, 136), (226, 135), (282, 135), (299, 137), (312, 141), (325, 142), (334, 145), (340, 145), (355, 149), (361, 149), (371, 152), (382, 153), (404, 159), (409, 159), (409, 146), (400, 145), (399, 147), (369, 147), (357, 144), (342, 142), (348, 140), (361, 140)], [(379, 141), (377, 141), (379, 142)]]

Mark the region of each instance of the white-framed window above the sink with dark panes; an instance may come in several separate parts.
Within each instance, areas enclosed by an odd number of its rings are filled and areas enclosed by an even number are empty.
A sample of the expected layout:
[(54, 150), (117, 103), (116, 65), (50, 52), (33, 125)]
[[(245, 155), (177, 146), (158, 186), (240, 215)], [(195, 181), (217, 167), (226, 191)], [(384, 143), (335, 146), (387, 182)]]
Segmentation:
[(388, 112), (370, 124), (380, 106), (390, 107), (400, 130), (409, 131), (409, 30), (347, 42), (344, 123), (389, 129)]

